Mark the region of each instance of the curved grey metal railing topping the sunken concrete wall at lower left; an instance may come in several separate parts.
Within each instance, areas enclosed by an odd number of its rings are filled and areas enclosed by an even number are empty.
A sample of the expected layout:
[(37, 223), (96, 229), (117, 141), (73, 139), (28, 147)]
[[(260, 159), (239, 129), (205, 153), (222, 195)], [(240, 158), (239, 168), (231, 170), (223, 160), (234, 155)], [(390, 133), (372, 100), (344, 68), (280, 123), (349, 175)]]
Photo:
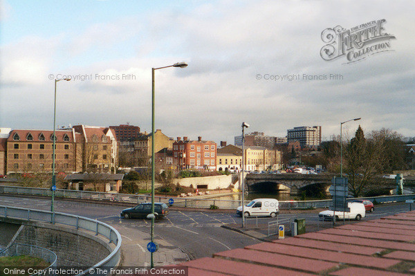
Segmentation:
[[(44, 221), (48, 223), (59, 223), (66, 226), (73, 226), (75, 229), (84, 229), (94, 232), (95, 235), (102, 235), (109, 240), (109, 243), (113, 243), (115, 248), (112, 252), (102, 261), (98, 262), (91, 268), (84, 270), (79, 275), (89, 275), (89, 271), (93, 268), (100, 267), (115, 267), (118, 265), (121, 256), (121, 235), (120, 233), (109, 226), (107, 223), (103, 223), (98, 220), (89, 219), (86, 217), (79, 217), (72, 214), (64, 214), (60, 212), (48, 212), (42, 210), (30, 210), (26, 208), (16, 208), (0, 205), (0, 217), (23, 219), (26, 221)], [(91, 252), (93, 254), (93, 252)]]

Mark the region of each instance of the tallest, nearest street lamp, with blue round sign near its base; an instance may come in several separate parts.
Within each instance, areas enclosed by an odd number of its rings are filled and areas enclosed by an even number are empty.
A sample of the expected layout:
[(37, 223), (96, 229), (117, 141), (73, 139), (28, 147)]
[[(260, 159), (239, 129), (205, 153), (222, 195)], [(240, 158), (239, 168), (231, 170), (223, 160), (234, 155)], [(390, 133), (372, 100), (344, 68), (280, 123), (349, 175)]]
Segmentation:
[[(163, 66), (158, 68), (151, 68), (151, 80), (152, 80), (152, 89), (151, 89), (151, 243), (154, 243), (154, 170), (155, 170), (155, 162), (156, 160), (154, 156), (154, 71), (158, 69), (168, 68), (168, 67), (180, 67), (185, 68), (187, 63), (185, 62), (178, 62), (173, 65)], [(154, 268), (153, 263), (153, 253), (151, 252), (151, 268)]]

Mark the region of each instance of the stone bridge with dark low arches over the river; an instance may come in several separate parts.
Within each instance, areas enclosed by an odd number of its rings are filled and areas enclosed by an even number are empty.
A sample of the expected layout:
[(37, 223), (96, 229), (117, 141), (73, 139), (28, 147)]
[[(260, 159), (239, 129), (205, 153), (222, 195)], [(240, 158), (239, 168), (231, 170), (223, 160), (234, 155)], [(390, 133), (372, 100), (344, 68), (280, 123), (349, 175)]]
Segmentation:
[[(331, 185), (334, 174), (247, 174), (245, 185), (248, 191), (270, 190), (280, 193), (299, 194), (306, 187), (320, 186), (320, 190), (326, 190)], [(409, 181), (409, 179), (407, 179)], [(412, 179), (411, 179), (412, 181)], [(377, 177), (375, 182), (387, 185), (394, 189), (395, 179)], [(407, 181), (404, 181), (404, 183)]]

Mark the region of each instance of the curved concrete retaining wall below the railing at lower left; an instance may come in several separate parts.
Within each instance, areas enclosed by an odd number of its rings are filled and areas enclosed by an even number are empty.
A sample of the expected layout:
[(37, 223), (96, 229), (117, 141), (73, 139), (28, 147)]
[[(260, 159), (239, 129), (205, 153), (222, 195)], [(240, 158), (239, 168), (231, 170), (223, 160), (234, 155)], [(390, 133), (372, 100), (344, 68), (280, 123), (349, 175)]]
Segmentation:
[[(15, 221), (15, 223), (19, 223)], [(24, 227), (16, 243), (40, 246), (55, 252), (58, 266), (93, 266), (110, 254), (110, 246), (94, 234), (54, 226), (51, 224), (24, 221)]]

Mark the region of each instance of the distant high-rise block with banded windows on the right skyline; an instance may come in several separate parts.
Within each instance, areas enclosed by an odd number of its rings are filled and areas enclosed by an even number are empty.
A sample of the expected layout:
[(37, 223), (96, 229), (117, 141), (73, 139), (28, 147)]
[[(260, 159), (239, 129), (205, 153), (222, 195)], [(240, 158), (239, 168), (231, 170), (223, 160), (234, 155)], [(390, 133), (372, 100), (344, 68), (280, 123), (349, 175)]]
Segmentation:
[(287, 130), (287, 140), (298, 140), (302, 149), (317, 148), (322, 142), (322, 127), (294, 127)]

